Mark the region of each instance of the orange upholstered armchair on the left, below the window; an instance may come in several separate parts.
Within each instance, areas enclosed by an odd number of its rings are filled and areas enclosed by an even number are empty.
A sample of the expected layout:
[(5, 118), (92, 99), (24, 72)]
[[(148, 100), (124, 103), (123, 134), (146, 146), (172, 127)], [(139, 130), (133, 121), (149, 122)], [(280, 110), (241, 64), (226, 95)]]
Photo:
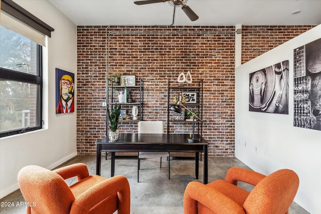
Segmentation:
[[(64, 179), (77, 176), (68, 186)], [(26, 166), (18, 174), (22, 194), (30, 206), (27, 213), (130, 212), (130, 189), (122, 175), (104, 178), (89, 175), (87, 166), (76, 163), (56, 170)]]

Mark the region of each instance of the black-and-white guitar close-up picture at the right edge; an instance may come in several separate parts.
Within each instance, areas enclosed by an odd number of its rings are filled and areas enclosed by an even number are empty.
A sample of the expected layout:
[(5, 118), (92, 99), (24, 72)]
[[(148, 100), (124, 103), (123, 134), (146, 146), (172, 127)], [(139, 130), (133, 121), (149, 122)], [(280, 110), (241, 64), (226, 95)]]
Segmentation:
[(321, 39), (293, 50), (293, 125), (321, 130)]

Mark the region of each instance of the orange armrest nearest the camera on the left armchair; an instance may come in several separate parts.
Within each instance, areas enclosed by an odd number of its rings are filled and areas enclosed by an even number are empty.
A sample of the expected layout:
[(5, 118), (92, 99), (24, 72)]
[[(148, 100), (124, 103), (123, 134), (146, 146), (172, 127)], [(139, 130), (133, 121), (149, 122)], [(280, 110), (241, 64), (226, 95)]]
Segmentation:
[(72, 203), (70, 213), (89, 213), (89, 210), (102, 200), (118, 193), (119, 214), (130, 213), (130, 187), (128, 180), (123, 175), (108, 178), (79, 195)]

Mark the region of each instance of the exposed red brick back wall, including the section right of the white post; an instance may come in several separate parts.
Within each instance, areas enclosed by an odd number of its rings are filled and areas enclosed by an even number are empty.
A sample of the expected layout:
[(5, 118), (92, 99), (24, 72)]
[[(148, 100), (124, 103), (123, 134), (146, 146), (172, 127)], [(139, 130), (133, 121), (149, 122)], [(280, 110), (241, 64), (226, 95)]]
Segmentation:
[[(245, 26), (242, 63), (310, 28)], [(286, 29), (291, 33), (284, 36)], [(174, 86), (181, 72), (190, 71), (193, 85), (204, 80), (203, 135), (210, 142), (209, 155), (234, 155), (234, 27), (78, 26), (77, 37), (78, 154), (95, 154), (96, 140), (105, 136), (101, 103), (108, 75), (142, 79), (144, 120), (163, 120), (167, 128), (168, 81)], [(136, 132), (137, 123), (122, 123), (119, 130)], [(170, 132), (190, 131), (186, 123), (170, 126)]]

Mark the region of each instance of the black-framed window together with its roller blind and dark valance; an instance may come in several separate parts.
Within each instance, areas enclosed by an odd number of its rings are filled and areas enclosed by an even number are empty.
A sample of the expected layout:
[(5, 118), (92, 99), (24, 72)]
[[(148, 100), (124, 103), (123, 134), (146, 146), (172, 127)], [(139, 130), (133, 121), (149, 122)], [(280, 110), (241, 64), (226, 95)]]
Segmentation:
[(0, 137), (42, 128), (42, 48), (53, 28), (1, 0)]

